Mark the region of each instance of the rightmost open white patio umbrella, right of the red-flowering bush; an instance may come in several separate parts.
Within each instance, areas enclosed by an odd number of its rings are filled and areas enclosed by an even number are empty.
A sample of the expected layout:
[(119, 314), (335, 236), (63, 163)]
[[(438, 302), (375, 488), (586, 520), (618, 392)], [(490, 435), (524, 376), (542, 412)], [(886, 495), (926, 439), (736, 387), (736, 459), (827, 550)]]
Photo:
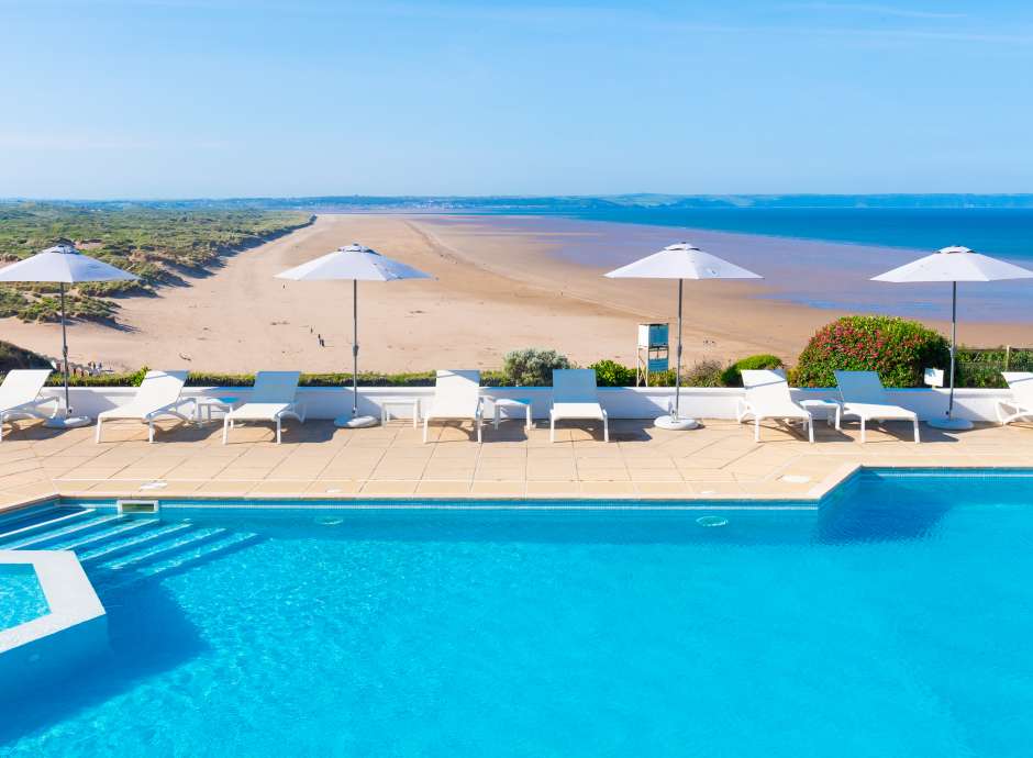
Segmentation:
[(957, 353), (957, 282), (1000, 281), (1003, 279), (1029, 279), (1033, 271), (1013, 264), (974, 253), (967, 247), (944, 247), (924, 258), (912, 260), (877, 277), (873, 281), (910, 283), (922, 281), (951, 282), (951, 394), (944, 419), (933, 419), (930, 426), (942, 430), (967, 430), (973, 423), (954, 417), (954, 364)]

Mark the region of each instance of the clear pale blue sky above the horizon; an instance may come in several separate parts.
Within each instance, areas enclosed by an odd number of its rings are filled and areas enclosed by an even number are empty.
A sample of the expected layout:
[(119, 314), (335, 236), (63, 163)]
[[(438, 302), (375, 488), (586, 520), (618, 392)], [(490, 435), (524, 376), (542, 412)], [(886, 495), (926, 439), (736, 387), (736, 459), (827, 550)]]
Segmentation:
[(1033, 191), (1033, 3), (0, 0), (0, 197)]

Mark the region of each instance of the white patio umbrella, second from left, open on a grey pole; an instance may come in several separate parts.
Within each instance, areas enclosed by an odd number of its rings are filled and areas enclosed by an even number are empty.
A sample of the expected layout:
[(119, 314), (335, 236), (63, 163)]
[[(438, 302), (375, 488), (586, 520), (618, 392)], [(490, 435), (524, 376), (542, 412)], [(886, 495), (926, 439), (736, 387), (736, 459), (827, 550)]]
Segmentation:
[(385, 258), (376, 250), (358, 243), (352, 243), (307, 264), (277, 274), (276, 278), (295, 281), (352, 280), (352, 413), (337, 416), (334, 419), (334, 424), (351, 428), (376, 426), (376, 417), (358, 415), (358, 282), (433, 279), (433, 277), (412, 266)]

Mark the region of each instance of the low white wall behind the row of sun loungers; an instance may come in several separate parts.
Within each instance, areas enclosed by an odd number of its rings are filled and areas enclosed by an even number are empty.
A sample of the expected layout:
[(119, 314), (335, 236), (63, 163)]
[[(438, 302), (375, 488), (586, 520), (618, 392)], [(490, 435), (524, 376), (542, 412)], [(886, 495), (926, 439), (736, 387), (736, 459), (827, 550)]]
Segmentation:
[[(45, 392), (54, 395), (63, 390), (47, 388)], [(184, 397), (235, 395), (246, 400), (251, 391), (247, 387), (198, 388), (188, 387)], [(76, 413), (96, 416), (101, 411), (125, 404), (135, 390), (131, 387), (73, 388), (71, 404)], [(432, 387), (360, 387), (359, 410), (363, 413), (380, 414), (380, 403), (399, 398), (420, 398), (425, 405), (433, 395)], [(532, 401), (534, 416), (547, 419), (552, 402), (552, 389), (548, 387), (490, 387), (485, 388), (488, 397), (526, 398)], [(834, 389), (793, 390), (797, 400), (817, 398), (836, 398)], [(599, 400), (610, 413), (611, 419), (652, 419), (667, 412), (667, 404), (674, 395), (670, 388), (657, 387), (603, 387), (599, 389)], [(734, 419), (735, 404), (743, 397), (741, 389), (687, 387), (681, 389), (681, 412), (700, 419)], [(940, 389), (890, 390), (892, 402), (918, 412), (921, 419), (942, 416), (947, 408), (947, 391)], [(1008, 390), (962, 389), (955, 391), (955, 415), (971, 421), (997, 421), (995, 406), (998, 400), (1009, 399)], [(352, 390), (343, 387), (303, 387), (298, 390), (298, 399), (306, 404), (312, 419), (333, 419), (352, 408)], [(487, 413), (491, 414), (491, 406)], [(392, 409), (402, 417), (409, 409)]]

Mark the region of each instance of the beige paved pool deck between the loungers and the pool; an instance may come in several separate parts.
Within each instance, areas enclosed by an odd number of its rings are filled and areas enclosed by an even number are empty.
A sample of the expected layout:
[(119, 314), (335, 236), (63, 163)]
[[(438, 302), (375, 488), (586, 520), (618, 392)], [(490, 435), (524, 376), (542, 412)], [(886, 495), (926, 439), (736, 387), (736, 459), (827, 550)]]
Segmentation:
[(284, 443), (268, 425), (163, 424), (147, 443), (144, 424), (56, 432), (18, 422), (0, 443), (0, 510), (54, 495), (176, 498), (696, 498), (814, 499), (858, 466), (1030, 467), (1033, 425), (977, 425), (964, 433), (908, 424), (842, 432), (815, 423), (815, 444), (770, 424), (760, 444), (753, 428), (704, 420), (701, 428), (666, 432), (651, 421), (614, 421), (601, 430), (557, 430), (519, 422), (422, 430), (396, 421), (338, 430), (329, 421), (288, 422)]

